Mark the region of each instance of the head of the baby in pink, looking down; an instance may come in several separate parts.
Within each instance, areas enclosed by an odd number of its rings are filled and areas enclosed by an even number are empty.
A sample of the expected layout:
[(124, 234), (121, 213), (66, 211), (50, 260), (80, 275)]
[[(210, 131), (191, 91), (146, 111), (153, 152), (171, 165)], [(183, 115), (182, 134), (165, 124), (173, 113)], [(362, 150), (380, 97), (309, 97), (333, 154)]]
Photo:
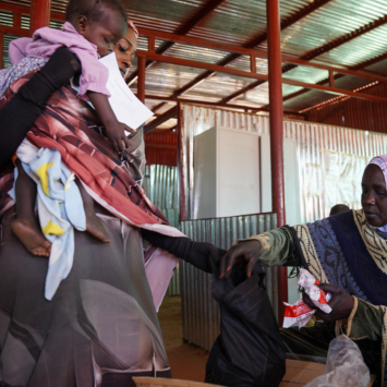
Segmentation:
[(70, 0), (65, 19), (101, 57), (112, 52), (128, 29), (126, 14), (120, 0)]

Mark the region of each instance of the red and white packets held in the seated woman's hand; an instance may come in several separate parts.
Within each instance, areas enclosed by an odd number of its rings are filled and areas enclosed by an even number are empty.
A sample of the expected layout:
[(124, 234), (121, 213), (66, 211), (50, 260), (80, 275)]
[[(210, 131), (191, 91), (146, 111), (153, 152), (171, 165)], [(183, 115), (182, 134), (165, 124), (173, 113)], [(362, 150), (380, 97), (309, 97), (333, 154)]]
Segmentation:
[[(330, 313), (331, 307), (328, 302), (331, 298), (330, 293), (326, 293), (324, 290), (319, 289), (317, 281), (311, 273), (305, 269), (301, 269), (299, 286), (304, 288), (305, 293), (310, 297), (312, 302), (325, 313)], [(283, 317), (283, 328), (289, 328), (294, 324), (299, 324), (299, 328), (302, 328), (315, 314), (316, 310), (310, 309), (302, 299), (298, 300), (293, 305), (287, 304), (285, 309)]]

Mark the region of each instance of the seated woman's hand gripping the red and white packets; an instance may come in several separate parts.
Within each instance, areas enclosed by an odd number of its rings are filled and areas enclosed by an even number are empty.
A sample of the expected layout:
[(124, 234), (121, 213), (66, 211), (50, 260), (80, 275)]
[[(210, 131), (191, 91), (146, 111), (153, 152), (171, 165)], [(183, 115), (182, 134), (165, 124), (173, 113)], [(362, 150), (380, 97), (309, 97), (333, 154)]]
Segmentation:
[(321, 283), (318, 288), (324, 290), (326, 293), (331, 294), (331, 299), (328, 305), (331, 307), (330, 313), (325, 313), (312, 302), (310, 297), (304, 292), (302, 299), (305, 304), (316, 310), (315, 316), (323, 319), (325, 323), (336, 322), (337, 319), (348, 318), (353, 310), (354, 300), (353, 297), (347, 293), (342, 288), (336, 285)]

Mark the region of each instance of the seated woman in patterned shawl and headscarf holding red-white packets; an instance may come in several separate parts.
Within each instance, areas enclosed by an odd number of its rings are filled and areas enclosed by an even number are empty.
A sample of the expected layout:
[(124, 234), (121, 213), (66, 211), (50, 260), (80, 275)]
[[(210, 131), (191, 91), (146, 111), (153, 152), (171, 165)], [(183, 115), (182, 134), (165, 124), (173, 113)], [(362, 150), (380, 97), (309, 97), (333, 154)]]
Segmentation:
[[(263, 266), (302, 266), (332, 294), (332, 311), (316, 316), (326, 325), (281, 329), (288, 352), (326, 356), (329, 341), (343, 332), (387, 385), (387, 155), (364, 170), (362, 207), (314, 223), (281, 227), (239, 241), (221, 259), (221, 276), (246, 259), (247, 275)], [(304, 301), (313, 309), (307, 295)], [(382, 360), (382, 361), (380, 361)], [(382, 363), (382, 370), (380, 370)]]

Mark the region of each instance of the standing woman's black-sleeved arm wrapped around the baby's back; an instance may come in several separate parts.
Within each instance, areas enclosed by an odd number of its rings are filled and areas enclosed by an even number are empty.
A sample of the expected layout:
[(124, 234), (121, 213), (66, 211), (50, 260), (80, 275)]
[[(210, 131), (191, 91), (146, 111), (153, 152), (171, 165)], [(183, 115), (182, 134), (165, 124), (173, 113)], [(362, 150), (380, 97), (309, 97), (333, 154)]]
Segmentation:
[(0, 171), (15, 154), (52, 93), (78, 72), (78, 59), (66, 47), (61, 47), (0, 110)]

